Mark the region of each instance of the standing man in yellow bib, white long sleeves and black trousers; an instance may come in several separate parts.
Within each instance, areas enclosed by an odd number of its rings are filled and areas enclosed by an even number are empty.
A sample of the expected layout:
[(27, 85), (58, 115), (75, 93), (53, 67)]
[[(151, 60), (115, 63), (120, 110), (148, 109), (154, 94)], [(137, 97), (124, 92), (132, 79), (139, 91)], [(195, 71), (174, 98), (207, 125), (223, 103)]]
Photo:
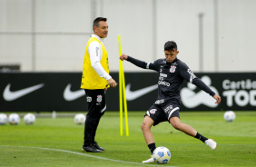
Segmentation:
[[(95, 142), (95, 134), (101, 117), (106, 109), (105, 89), (116, 87), (117, 83), (109, 75), (108, 55), (103, 45), (107, 37), (107, 19), (97, 17), (94, 20), (94, 34), (91, 35), (84, 54), (81, 88), (85, 90), (88, 113), (84, 124), (84, 145), (86, 152), (103, 152), (104, 149)], [(108, 84), (108, 86), (106, 86)]]

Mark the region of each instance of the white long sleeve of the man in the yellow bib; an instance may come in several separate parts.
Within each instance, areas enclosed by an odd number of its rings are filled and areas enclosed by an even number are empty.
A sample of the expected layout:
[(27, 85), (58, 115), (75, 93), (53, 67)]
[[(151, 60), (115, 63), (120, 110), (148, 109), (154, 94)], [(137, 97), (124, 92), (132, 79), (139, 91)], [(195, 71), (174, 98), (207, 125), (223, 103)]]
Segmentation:
[(92, 42), (88, 46), (88, 53), (90, 54), (91, 64), (95, 72), (105, 80), (111, 79), (112, 77), (106, 73), (106, 71), (103, 69), (103, 65), (101, 64), (103, 57), (102, 45), (96, 41)]

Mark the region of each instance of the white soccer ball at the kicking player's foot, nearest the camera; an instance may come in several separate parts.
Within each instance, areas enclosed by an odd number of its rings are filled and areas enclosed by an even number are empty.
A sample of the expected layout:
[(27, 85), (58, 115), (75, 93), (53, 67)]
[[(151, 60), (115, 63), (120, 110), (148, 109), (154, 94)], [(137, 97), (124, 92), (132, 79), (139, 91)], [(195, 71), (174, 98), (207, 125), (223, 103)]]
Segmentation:
[(157, 163), (167, 163), (171, 159), (171, 152), (166, 147), (157, 147), (153, 151), (153, 161)]

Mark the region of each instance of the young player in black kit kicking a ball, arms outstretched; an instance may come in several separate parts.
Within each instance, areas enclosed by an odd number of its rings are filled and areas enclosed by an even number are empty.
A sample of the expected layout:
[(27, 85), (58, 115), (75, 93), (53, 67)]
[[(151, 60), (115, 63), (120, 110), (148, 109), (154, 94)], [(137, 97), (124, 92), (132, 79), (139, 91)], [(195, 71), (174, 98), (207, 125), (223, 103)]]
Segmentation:
[[(156, 146), (151, 127), (152, 125), (168, 121), (175, 129), (201, 140), (210, 146), (212, 150), (215, 150), (217, 146), (216, 142), (202, 136), (202, 134), (195, 131), (190, 125), (181, 123), (179, 110), (181, 105), (180, 90), (182, 82), (185, 79), (195, 84), (205, 93), (212, 95), (216, 103), (221, 103), (221, 97), (212, 92), (200, 78), (192, 73), (192, 70), (186, 64), (177, 58), (179, 51), (175, 42), (168, 41), (164, 44), (164, 54), (165, 58), (158, 59), (153, 63), (145, 63), (126, 54), (120, 56), (122, 61), (126, 60), (138, 67), (151, 69), (159, 73), (158, 97), (147, 113), (145, 113), (142, 124), (145, 142), (153, 153)], [(143, 162), (153, 162), (153, 158)]]

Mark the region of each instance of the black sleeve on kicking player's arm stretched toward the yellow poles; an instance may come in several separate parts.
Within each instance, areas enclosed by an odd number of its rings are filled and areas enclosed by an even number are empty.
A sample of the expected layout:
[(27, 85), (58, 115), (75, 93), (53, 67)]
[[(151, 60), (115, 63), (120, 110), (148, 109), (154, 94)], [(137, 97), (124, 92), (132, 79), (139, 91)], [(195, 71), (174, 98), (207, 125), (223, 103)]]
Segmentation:
[(158, 71), (158, 61), (154, 61), (153, 63), (146, 63), (141, 60), (135, 59), (130, 55), (128, 55), (127, 61), (143, 69)]

